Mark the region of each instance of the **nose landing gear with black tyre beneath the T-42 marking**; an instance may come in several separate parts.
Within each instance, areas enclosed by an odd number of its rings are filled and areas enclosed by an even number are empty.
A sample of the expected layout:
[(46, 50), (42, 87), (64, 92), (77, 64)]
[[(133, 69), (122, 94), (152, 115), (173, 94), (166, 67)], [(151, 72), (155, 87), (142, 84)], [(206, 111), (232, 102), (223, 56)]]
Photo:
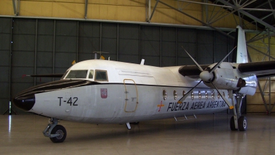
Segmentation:
[(65, 141), (67, 132), (65, 127), (62, 125), (57, 125), (58, 119), (50, 118), (49, 124), (43, 131), (44, 136), (50, 137), (50, 140), (54, 143), (62, 143)]

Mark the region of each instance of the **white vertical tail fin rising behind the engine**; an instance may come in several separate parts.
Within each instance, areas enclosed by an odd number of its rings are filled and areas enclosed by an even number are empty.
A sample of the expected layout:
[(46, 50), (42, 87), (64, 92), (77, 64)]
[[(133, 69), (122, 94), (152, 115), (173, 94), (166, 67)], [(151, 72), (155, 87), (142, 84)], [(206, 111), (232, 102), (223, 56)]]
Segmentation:
[(248, 63), (248, 50), (246, 49), (245, 31), (241, 26), (236, 26), (236, 36), (233, 51), (232, 63)]

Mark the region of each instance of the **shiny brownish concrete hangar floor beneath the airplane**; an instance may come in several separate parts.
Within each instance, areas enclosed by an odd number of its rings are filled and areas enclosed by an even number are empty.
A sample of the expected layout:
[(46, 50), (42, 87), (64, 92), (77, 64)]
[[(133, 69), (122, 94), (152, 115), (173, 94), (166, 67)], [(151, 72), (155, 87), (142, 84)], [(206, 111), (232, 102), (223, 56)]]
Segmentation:
[(43, 136), (48, 118), (0, 116), (0, 154), (274, 154), (275, 116), (248, 114), (248, 131), (230, 131), (227, 114), (131, 125), (61, 121), (63, 143)]

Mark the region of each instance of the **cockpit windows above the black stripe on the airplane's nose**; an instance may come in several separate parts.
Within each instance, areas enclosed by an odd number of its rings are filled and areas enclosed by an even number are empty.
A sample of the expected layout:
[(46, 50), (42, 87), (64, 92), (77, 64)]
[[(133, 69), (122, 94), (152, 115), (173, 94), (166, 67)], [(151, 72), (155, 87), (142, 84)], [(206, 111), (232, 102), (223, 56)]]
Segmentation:
[(61, 79), (108, 81), (108, 74), (107, 70), (67, 70)]

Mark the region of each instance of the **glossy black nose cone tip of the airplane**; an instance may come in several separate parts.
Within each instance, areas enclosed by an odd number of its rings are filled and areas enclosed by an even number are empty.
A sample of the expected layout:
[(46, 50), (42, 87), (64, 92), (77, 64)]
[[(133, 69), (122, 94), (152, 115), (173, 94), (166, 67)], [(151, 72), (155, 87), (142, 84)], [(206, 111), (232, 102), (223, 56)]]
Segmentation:
[(29, 111), (34, 106), (35, 96), (34, 94), (17, 95), (14, 97), (13, 103), (21, 110)]

